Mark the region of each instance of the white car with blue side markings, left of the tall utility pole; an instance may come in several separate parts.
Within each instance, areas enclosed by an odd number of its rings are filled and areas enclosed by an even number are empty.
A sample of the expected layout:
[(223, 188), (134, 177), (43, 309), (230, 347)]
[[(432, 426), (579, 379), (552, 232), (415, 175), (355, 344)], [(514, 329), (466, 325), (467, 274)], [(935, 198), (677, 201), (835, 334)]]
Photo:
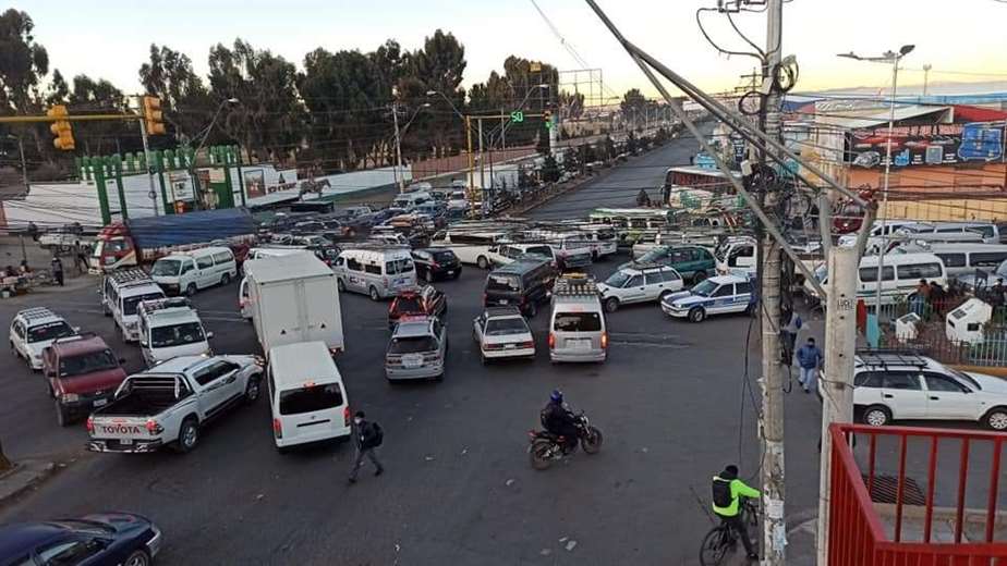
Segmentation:
[(754, 281), (741, 275), (704, 279), (689, 291), (665, 297), (660, 309), (693, 322), (702, 322), (709, 315), (749, 312), (754, 305), (753, 287)]

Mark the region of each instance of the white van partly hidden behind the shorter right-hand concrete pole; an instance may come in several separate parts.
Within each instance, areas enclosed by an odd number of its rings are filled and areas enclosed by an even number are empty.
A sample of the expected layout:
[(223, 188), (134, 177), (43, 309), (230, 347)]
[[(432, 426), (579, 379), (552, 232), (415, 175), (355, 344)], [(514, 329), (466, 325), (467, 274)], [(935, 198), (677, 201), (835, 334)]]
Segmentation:
[[(876, 304), (877, 297), (877, 256), (864, 256), (857, 270), (857, 298), (864, 299), (868, 306)], [(947, 272), (941, 258), (933, 254), (898, 254), (885, 255), (882, 273), (882, 305), (893, 305), (915, 292), (921, 279), (927, 282), (937, 282), (947, 286)], [(828, 282), (828, 272), (825, 266), (815, 271), (815, 279), (823, 287)], [(818, 297), (814, 287), (804, 282), (804, 292), (810, 297)]]

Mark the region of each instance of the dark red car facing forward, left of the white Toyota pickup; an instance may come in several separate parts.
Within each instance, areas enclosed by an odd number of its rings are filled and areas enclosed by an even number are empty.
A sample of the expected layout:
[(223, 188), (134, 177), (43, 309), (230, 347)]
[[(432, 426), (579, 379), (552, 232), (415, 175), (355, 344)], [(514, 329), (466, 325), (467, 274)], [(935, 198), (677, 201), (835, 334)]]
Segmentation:
[(59, 339), (43, 350), (43, 376), (60, 427), (111, 401), (126, 377), (122, 362), (95, 334)]

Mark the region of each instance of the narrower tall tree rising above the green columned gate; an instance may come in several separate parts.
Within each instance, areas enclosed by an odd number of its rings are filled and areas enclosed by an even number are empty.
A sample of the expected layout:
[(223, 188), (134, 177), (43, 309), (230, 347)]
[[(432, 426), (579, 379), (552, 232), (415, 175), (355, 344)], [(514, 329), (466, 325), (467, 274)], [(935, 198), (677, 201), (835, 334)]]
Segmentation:
[[(178, 144), (192, 143), (192, 137), (209, 125), (219, 104), (193, 71), (189, 56), (167, 46), (150, 44), (149, 61), (139, 67), (139, 82), (147, 94), (161, 99), (165, 122)], [(227, 139), (219, 130), (208, 134), (208, 143)]]

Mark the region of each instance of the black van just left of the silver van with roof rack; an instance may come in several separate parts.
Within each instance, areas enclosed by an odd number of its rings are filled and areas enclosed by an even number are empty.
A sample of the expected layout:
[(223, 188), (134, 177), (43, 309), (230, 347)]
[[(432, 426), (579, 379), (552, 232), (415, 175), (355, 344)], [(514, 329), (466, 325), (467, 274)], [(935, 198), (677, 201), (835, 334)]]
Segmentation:
[(489, 272), (483, 290), (483, 306), (518, 307), (525, 317), (538, 312), (538, 304), (549, 299), (556, 268), (538, 256), (522, 258)]

